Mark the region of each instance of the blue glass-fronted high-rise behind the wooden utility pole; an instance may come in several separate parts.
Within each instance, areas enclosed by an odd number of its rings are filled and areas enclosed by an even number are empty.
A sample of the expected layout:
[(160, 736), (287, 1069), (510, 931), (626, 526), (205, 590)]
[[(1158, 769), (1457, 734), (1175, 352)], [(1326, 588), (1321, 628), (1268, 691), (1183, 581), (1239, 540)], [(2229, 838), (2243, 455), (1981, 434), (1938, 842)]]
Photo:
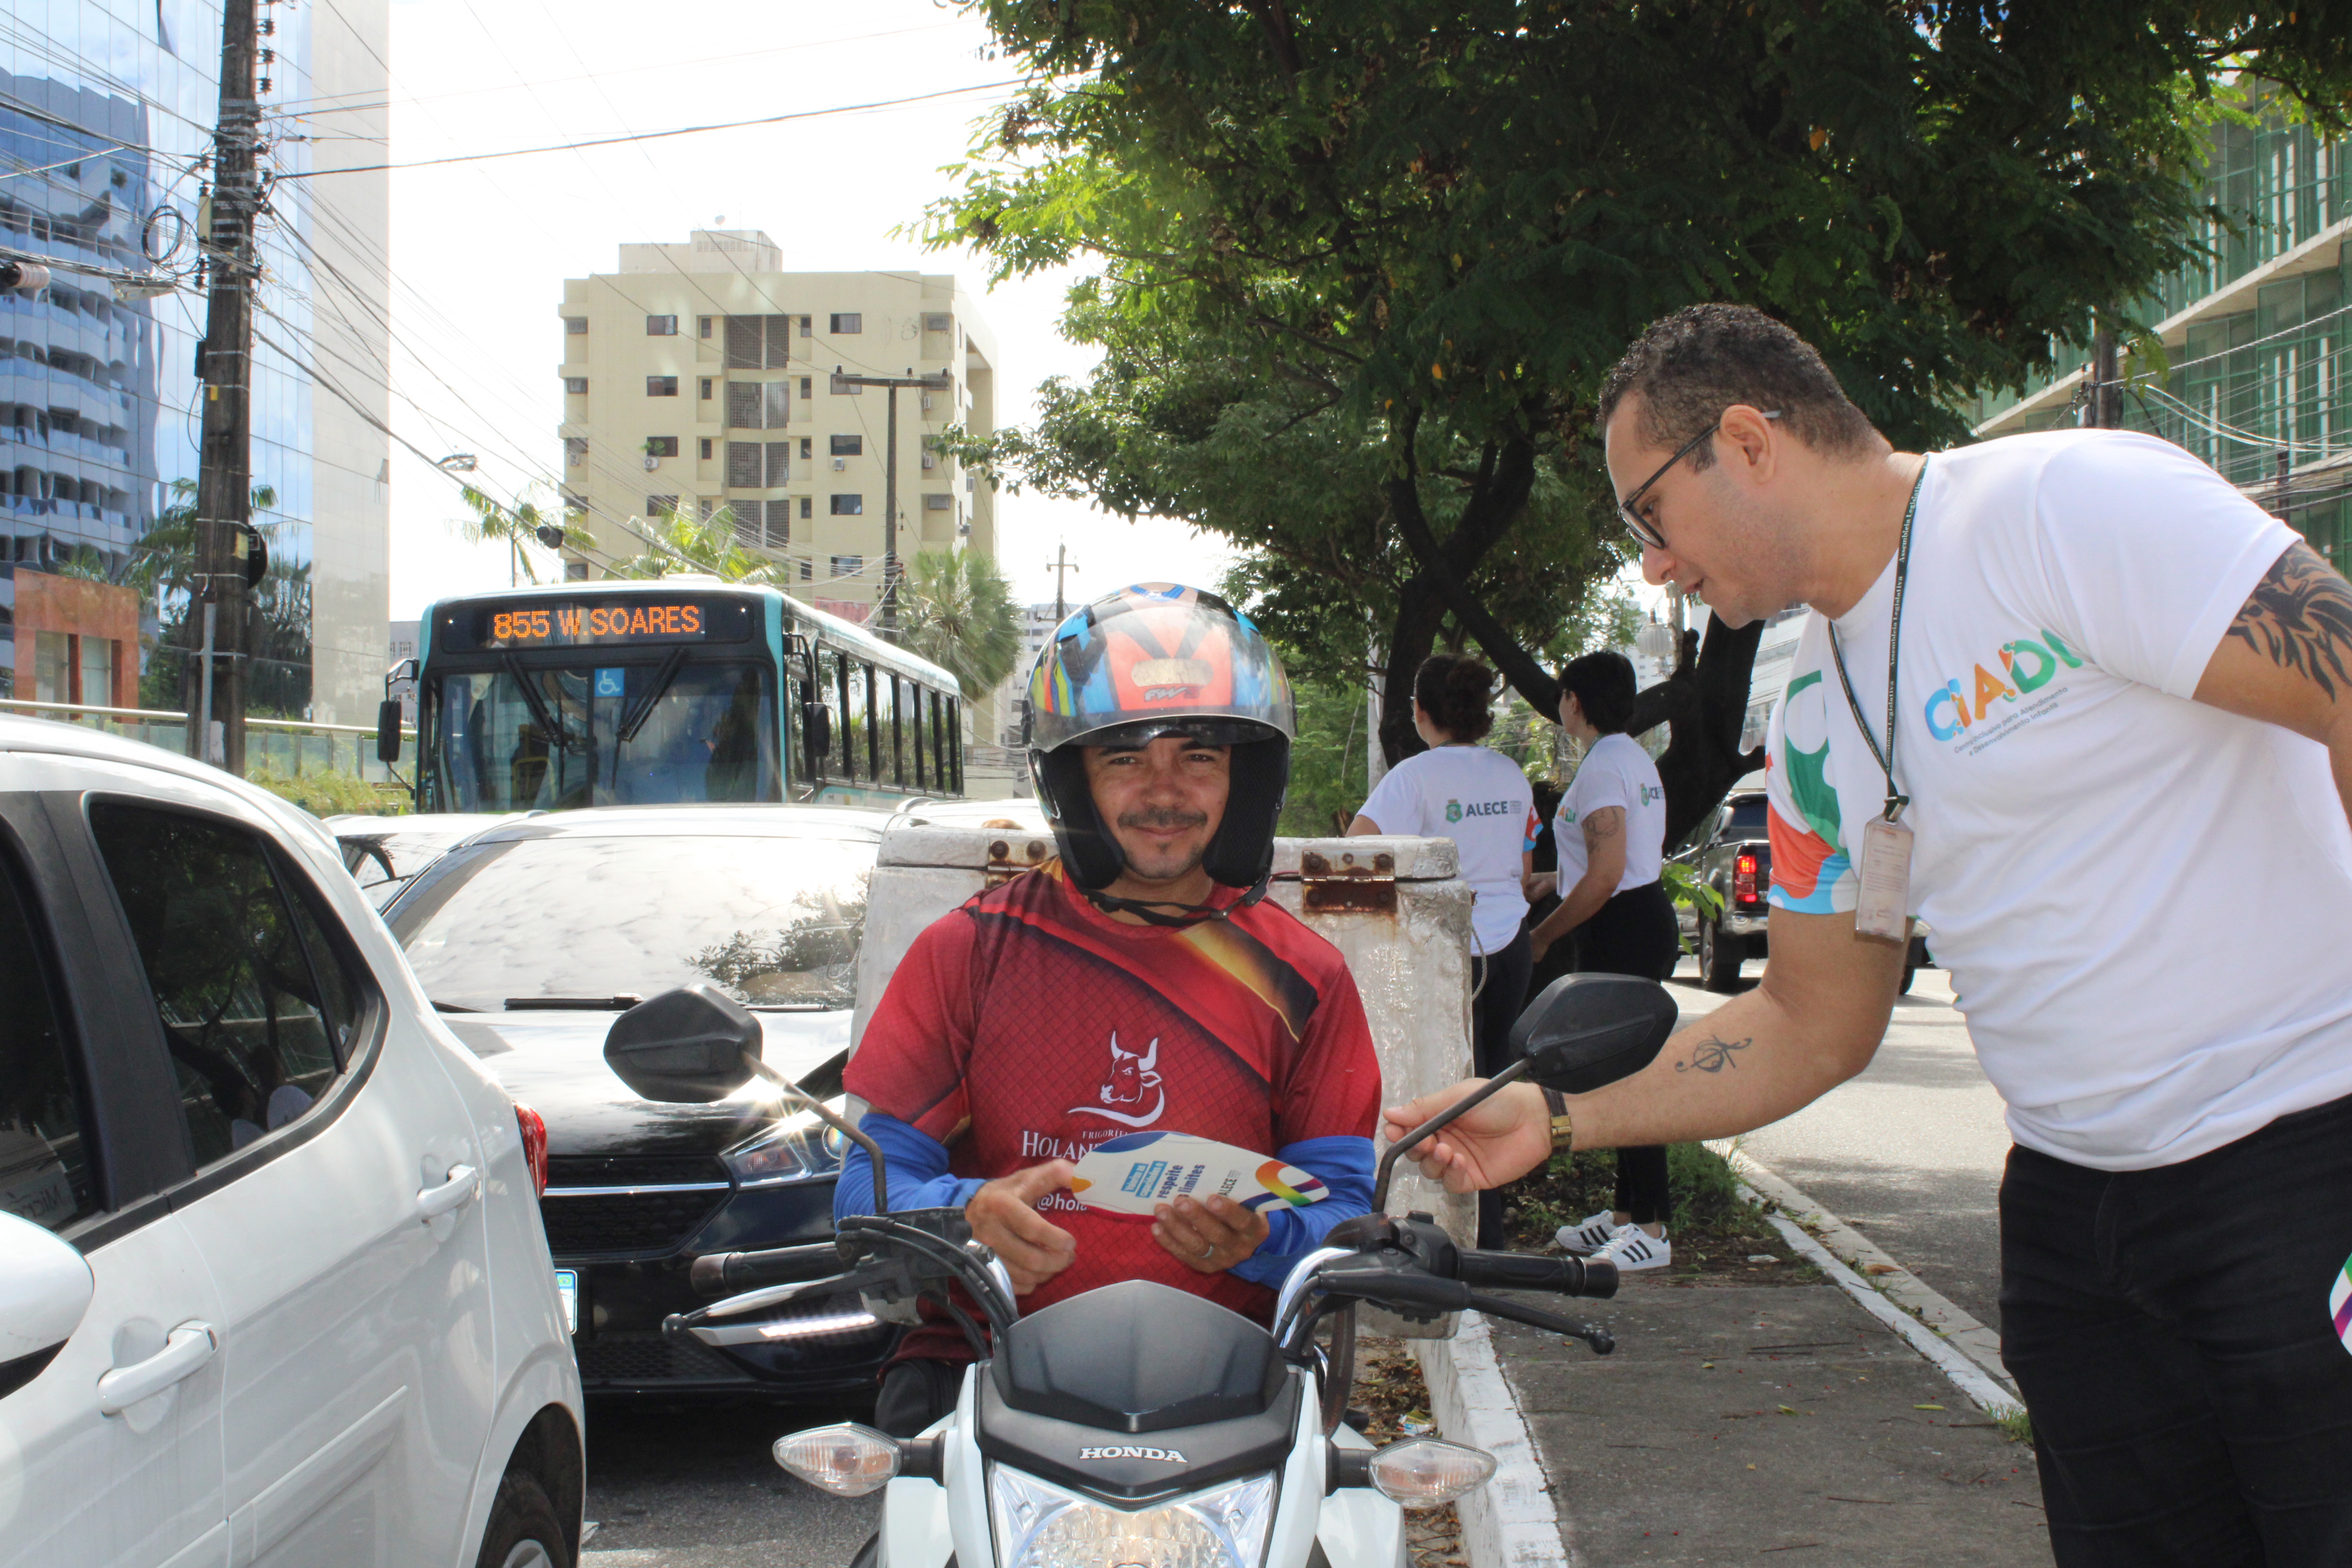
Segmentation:
[[(256, 715), (367, 724), (388, 597), (388, 2), (259, 2), (252, 473), (270, 552)], [(33, 696), (16, 576), (136, 581), (198, 475), (198, 341), (221, 7), (12, 0), (0, 16), (0, 682)], [(169, 583), (169, 574), (165, 574)], [(181, 595), (143, 607), (136, 705), (181, 708)], [(26, 642), (33, 642), (31, 637)]]

